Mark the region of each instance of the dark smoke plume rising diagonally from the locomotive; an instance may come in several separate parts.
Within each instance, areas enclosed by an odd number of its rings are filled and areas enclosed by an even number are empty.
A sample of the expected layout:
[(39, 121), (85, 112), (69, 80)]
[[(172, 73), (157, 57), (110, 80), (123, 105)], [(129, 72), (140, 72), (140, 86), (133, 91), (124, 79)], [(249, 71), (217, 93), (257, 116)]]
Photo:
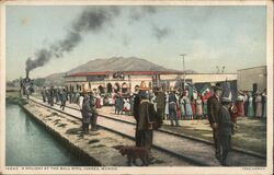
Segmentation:
[(34, 54), (34, 59), (27, 58), (26, 72), (42, 67), (53, 57), (61, 58), (65, 52), (72, 51), (82, 40), (82, 35), (88, 32), (98, 33), (111, 25), (113, 20), (119, 14), (119, 9), (114, 7), (88, 8), (72, 21), (64, 39), (49, 45), (48, 48), (42, 48)]

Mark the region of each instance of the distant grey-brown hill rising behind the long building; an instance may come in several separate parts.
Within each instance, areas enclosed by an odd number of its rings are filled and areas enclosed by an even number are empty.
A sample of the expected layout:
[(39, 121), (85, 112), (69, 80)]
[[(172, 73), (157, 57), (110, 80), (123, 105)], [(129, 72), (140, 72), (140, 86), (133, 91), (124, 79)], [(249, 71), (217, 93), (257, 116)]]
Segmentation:
[[(167, 69), (164, 67), (152, 63), (146, 59), (137, 57), (112, 57), (109, 59), (95, 59), (90, 60), (77, 68), (73, 68), (67, 72), (54, 73), (45, 77), (45, 85), (64, 85), (64, 75), (78, 73), (78, 72), (101, 72), (101, 71), (178, 71), (174, 69)], [(194, 73), (195, 71), (187, 70), (187, 73)]]

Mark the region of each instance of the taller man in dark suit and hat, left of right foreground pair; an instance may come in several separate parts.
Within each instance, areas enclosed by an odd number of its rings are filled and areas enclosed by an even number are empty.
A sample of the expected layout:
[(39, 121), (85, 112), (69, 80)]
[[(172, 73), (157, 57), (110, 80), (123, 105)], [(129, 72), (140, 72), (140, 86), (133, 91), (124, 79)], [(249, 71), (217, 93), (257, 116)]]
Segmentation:
[(214, 86), (214, 95), (210, 96), (207, 101), (208, 120), (209, 120), (210, 127), (213, 128), (215, 156), (218, 160), (220, 159), (220, 147), (219, 147), (219, 139), (218, 139), (218, 116), (221, 109), (221, 103), (220, 103), (221, 93), (222, 93), (222, 89), (220, 86), (220, 83), (216, 83), (216, 85)]

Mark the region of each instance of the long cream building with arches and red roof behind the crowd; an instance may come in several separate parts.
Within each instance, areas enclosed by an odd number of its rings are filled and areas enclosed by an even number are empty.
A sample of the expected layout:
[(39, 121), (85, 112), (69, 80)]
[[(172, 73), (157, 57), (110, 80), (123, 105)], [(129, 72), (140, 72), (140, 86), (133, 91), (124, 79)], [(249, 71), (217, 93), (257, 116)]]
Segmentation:
[(135, 88), (145, 81), (150, 89), (161, 86), (163, 91), (170, 86), (182, 86), (183, 78), (190, 83), (215, 83), (237, 80), (237, 73), (186, 73), (179, 71), (104, 71), (79, 72), (65, 75), (65, 85), (69, 92), (83, 90), (99, 93), (133, 93)]

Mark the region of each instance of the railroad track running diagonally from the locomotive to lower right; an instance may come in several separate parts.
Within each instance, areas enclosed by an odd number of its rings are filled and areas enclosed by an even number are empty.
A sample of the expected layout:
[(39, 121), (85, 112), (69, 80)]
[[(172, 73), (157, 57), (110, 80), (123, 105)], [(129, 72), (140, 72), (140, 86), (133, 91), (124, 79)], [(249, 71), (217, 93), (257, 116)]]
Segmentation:
[[(70, 117), (81, 119), (80, 112), (76, 107), (66, 106), (67, 109), (61, 110), (59, 107), (56, 107), (56, 105), (53, 107), (43, 103), (41, 98), (32, 96), (30, 100), (47, 108), (52, 108)], [(98, 125), (103, 129), (135, 140), (135, 122), (106, 115), (99, 115)], [(219, 166), (219, 162), (214, 158), (213, 143), (209, 141), (160, 129), (153, 131), (152, 148), (183, 159), (193, 165)], [(233, 149), (229, 155), (228, 162), (231, 162), (229, 165), (232, 166), (263, 166), (266, 163), (265, 158), (262, 155), (242, 150)]]

